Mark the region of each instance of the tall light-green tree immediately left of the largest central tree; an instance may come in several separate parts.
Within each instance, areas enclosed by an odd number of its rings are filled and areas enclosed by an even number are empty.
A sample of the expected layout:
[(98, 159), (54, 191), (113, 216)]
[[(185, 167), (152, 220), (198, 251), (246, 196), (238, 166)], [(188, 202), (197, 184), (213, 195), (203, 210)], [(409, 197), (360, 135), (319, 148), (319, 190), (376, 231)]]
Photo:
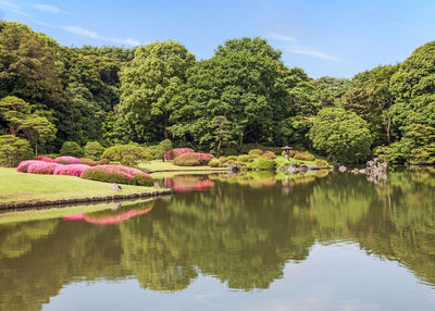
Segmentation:
[[(120, 122), (126, 122), (133, 139), (169, 138), (173, 99), (186, 80), (195, 57), (178, 42), (153, 42), (136, 49), (133, 61), (121, 71)], [(156, 128), (162, 130), (162, 135)]]

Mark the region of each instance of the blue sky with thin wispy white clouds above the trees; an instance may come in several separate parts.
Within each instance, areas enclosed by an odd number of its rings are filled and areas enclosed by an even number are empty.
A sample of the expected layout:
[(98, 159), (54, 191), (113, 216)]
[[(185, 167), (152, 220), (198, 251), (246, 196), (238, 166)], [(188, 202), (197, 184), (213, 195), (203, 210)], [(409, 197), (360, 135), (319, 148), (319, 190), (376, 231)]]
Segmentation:
[(176, 40), (197, 60), (228, 39), (262, 37), (289, 67), (350, 78), (435, 39), (435, 0), (0, 0), (0, 18), (63, 46)]

